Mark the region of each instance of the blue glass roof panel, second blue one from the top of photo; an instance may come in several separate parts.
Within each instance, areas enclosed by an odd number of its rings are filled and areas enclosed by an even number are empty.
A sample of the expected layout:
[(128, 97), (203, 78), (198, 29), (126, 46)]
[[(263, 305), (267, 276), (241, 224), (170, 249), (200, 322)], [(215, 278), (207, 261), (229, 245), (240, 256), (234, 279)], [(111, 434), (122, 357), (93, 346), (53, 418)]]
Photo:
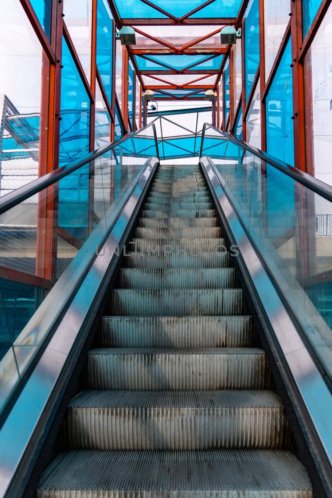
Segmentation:
[[(149, 55), (150, 59), (153, 59), (152, 61), (143, 59), (142, 57), (139, 57), (135, 55), (135, 59), (138, 65), (138, 69), (142, 71), (149, 71), (149, 70), (158, 70), (158, 71), (169, 71), (170, 68), (172, 69), (184, 69), (188, 66), (191, 66), (192, 64), (199, 63), (197, 66), (194, 66), (190, 68), (193, 72), (195, 72), (196, 69), (219, 69), (221, 65), (221, 55), (218, 55), (214, 57), (213, 59), (209, 59), (209, 56), (202, 56), (202, 55), (154, 55), (151, 56)], [(208, 60), (207, 60), (208, 59)], [(155, 62), (154, 62), (155, 61)], [(166, 64), (168, 67), (161, 66), (158, 64), (158, 62), (162, 64)]]

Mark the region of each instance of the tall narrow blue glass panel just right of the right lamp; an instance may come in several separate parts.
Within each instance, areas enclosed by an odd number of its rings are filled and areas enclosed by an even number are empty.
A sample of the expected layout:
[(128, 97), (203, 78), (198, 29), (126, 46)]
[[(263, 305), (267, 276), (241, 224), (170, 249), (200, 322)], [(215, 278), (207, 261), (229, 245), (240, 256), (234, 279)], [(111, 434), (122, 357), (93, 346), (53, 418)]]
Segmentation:
[(258, 0), (251, 0), (244, 16), (245, 101), (247, 102), (259, 64)]

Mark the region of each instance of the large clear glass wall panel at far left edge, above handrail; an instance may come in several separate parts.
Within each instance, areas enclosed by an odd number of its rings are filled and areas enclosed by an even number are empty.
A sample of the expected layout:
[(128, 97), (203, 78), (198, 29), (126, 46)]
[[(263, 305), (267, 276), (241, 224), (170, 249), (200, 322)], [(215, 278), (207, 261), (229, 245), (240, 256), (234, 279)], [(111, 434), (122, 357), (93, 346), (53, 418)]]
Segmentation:
[(49, 64), (19, 0), (1, 2), (0, 67), (2, 196), (47, 172)]

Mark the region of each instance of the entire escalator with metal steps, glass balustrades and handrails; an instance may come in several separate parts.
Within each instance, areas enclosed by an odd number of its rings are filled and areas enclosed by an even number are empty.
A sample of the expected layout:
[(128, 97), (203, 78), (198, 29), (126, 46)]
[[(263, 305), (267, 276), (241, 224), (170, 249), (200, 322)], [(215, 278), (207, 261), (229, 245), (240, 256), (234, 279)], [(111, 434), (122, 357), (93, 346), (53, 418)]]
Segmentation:
[(0, 497), (330, 498), (332, 189), (208, 124), (199, 164), (159, 145), (0, 198), (2, 264), (36, 270), (0, 292)]

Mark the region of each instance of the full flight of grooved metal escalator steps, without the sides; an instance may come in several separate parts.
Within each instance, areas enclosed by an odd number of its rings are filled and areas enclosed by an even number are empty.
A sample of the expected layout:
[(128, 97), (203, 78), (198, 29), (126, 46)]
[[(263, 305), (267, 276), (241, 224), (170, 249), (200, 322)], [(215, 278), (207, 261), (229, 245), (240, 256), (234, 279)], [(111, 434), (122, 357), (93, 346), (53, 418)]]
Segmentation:
[(159, 166), (37, 497), (312, 497), (233, 259), (199, 167)]

